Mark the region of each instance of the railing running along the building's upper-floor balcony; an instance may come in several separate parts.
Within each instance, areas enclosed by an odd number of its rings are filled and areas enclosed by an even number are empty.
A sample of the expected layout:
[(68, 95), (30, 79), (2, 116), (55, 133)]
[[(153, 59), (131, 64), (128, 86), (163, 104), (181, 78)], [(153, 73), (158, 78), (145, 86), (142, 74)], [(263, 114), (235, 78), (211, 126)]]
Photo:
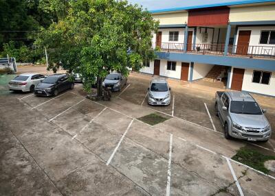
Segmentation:
[[(225, 43), (186, 45), (184, 43), (162, 42), (155, 44), (161, 51), (195, 53), (223, 56)], [(247, 58), (268, 58), (275, 60), (275, 47), (228, 45), (228, 56), (243, 56)]]

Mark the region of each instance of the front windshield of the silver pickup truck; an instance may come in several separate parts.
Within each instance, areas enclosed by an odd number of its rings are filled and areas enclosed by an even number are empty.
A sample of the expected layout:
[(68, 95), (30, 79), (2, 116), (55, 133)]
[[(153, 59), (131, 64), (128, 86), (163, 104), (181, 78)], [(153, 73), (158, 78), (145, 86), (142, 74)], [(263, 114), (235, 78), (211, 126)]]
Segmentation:
[(262, 114), (258, 103), (254, 101), (231, 101), (230, 112), (235, 114)]

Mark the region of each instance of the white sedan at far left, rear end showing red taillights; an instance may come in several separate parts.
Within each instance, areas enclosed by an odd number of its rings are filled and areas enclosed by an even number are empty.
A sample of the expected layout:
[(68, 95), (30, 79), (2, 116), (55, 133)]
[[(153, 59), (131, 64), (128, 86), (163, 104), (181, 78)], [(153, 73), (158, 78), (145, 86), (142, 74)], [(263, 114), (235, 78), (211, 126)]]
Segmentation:
[(8, 86), (10, 90), (34, 92), (35, 86), (43, 79), (45, 79), (45, 75), (39, 73), (23, 73), (14, 77), (14, 79), (9, 82)]

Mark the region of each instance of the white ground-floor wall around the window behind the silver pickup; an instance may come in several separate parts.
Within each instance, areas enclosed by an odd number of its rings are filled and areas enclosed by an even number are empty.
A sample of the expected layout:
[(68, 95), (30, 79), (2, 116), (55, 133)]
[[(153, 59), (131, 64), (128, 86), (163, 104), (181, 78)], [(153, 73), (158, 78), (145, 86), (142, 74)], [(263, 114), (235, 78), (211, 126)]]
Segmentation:
[(272, 72), (270, 78), (270, 84), (258, 84), (252, 82), (253, 70), (245, 69), (243, 75), (243, 87), (242, 90), (249, 91), (252, 93), (261, 93), (265, 95), (275, 96), (275, 72)]

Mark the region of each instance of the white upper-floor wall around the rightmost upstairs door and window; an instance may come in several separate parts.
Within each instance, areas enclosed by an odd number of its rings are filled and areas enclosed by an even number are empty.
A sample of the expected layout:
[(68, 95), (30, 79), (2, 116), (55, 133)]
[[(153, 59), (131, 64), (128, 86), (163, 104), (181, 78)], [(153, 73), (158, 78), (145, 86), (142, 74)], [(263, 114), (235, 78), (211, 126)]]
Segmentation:
[[(239, 27), (238, 28), (238, 32), (237, 32), (237, 36), (236, 36), (236, 42), (235, 44), (237, 45), (238, 43), (238, 38), (239, 38), (239, 32), (240, 31), (246, 31), (246, 30), (250, 30), (251, 34), (250, 34), (250, 49), (248, 51), (248, 53), (263, 53), (264, 49), (270, 49), (269, 47), (275, 47), (275, 45), (266, 45), (266, 44), (260, 44), (260, 38), (261, 38), (261, 31), (265, 31), (265, 30), (275, 30), (275, 27), (270, 26), (270, 27)], [(252, 48), (251, 46), (259, 46), (259, 47), (263, 47), (263, 48)], [(263, 50), (262, 50), (263, 49)], [(268, 54), (268, 52), (266, 53)], [(271, 55), (271, 53), (269, 53)], [(272, 54), (275, 54), (275, 49), (273, 49)]]

